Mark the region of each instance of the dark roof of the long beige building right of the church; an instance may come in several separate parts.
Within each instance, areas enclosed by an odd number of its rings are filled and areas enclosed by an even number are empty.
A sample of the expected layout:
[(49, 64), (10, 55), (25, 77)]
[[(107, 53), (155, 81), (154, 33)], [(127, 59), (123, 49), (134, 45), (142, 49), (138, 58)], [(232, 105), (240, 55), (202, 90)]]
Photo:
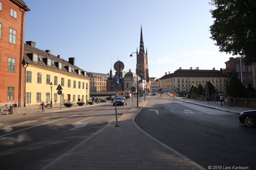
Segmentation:
[(229, 77), (227, 74), (222, 73), (220, 70), (176, 70), (174, 73), (164, 75), (159, 78), (163, 80), (173, 77)]

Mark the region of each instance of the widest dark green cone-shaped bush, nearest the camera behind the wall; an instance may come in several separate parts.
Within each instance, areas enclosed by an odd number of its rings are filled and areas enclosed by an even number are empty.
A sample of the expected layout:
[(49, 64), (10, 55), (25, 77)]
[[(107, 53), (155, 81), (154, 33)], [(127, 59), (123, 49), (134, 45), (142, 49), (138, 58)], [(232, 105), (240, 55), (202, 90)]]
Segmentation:
[(237, 98), (251, 98), (248, 90), (236, 75), (229, 79), (228, 94)]

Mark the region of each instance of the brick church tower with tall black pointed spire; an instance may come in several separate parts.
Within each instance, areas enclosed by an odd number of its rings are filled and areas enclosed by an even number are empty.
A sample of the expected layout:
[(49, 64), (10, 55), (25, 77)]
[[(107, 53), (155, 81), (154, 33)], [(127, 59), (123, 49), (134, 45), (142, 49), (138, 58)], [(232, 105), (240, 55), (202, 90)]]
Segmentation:
[(138, 53), (137, 49), (137, 64), (138, 70), (136, 70), (136, 74), (138, 74), (141, 78), (141, 74), (143, 75), (143, 79), (147, 82), (149, 81), (148, 74), (148, 49), (146, 48), (146, 53), (144, 49), (143, 35), (142, 35), (142, 26), (140, 26), (140, 51)]

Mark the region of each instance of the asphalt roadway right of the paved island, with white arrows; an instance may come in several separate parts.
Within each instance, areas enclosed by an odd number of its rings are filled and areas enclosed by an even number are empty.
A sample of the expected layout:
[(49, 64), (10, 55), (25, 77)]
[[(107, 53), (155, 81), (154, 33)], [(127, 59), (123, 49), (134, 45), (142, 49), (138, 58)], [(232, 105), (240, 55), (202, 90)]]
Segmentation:
[(141, 129), (206, 169), (255, 169), (256, 128), (239, 123), (238, 114), (163, 97), (147, 98), (135, 119)]

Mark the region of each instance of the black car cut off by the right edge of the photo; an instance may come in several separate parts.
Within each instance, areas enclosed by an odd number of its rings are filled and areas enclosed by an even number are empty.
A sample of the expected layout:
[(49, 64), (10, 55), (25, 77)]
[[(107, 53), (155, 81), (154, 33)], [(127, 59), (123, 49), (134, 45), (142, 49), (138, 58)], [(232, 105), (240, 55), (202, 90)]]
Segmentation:
[(239, 122), (248, 127), (256, 126), (256, 110), (243, 111), (239, 115)]

